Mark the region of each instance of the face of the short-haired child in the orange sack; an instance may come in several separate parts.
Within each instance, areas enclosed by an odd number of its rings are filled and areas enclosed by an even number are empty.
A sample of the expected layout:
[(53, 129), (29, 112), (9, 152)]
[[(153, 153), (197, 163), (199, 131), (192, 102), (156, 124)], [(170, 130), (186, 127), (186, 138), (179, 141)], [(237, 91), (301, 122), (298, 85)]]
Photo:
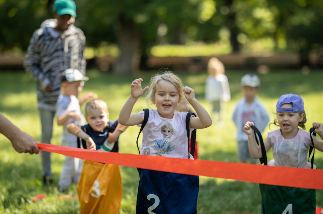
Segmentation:
[(86, 115), (86, 121), (94, 131), (103, 131), (109, 122), (109, 113), (99, 109), (90, 108)]

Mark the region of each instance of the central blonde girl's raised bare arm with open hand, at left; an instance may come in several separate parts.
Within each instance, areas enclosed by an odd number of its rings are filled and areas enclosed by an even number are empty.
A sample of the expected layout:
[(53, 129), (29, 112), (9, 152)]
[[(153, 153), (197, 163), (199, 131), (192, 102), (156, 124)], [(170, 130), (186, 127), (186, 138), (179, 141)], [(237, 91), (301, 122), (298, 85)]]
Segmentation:
[(143, 117), (141, 113), (131, 114), (132, 108), (137, 102), (138, 98), (143, 95), (147, 90), (148, 86), (144, 89), (141, 88), (141, 82), (143, 80), (141, 78), (132, 81), (131, 87), (131, 95), (126, 101), (126, 103), (121, 108), (119, 114), (119, 123), (124, 126), (134, 126), (141, 124), (143, 121)]

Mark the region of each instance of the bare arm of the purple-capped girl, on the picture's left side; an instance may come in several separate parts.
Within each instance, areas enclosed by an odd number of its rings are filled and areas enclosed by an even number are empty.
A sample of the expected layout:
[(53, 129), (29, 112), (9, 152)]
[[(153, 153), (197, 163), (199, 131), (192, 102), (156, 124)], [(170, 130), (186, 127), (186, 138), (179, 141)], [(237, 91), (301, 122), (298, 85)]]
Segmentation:
[[(262, 153), (260, 145), (258, 146), (256, 142), (254, 130), (251, 128), (252, 125), (254, 125), (253, 122), (246, 122), (245, 126), (243, 127), (243, 131), (248, 135), (248, 146), (251, 157), (257, 159), (262, 157)], [(264, 142), (264, 145), (267, 153), (271, 148), (271, 145), (269, 144), (267, 138)]]

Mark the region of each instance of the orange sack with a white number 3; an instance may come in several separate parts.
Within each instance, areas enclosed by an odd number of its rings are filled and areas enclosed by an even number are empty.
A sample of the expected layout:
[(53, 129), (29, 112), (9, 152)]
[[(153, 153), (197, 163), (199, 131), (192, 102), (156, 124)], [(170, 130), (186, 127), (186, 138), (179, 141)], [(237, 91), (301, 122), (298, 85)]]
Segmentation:
[(118, 214), (122, 199), (120, 166), (84, 160), (77, 190), (81, 214)]

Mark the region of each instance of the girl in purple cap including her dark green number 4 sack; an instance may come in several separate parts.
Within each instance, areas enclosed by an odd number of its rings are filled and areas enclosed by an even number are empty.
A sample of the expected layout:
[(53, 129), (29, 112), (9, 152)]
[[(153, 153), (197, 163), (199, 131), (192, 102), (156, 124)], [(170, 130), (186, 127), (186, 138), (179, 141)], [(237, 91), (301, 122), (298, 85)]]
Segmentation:
[[(295, 94), (282, 95), (276, 105), (276, 114), (277, 118), (273, 124), (277, 125), (278, 123), (277, 126), (280, 128), (268, 132), (264, 142), (266, 152), (273, 148), (274, 160), (266, 161), (267, 165), (297, 168), (313, 167), (315, 169), (316, 166), (313, 162), (307, 161), (307, 152), (310, 146), (315, 146), (318, 150), (323, 151), (323, 141), (305, 131), (306, 115), (302, 97)], [(243, 131), (248, 135), (251, 156), (262, 158), (261, 147), (256, 143), (252, 125), (254, 125), (252, 122), (246, 122)], [(313, 128), (315, 128), (314, 132), (323, 138), (322, 123), (313, 123)], [(311, 137), (313, 141), (311, 141)], [(263, 214), (292, 213), (293, 211), (302, 214), (315, 213), (315, 189), (266, 184), (259, 184), (259, 188)]]

